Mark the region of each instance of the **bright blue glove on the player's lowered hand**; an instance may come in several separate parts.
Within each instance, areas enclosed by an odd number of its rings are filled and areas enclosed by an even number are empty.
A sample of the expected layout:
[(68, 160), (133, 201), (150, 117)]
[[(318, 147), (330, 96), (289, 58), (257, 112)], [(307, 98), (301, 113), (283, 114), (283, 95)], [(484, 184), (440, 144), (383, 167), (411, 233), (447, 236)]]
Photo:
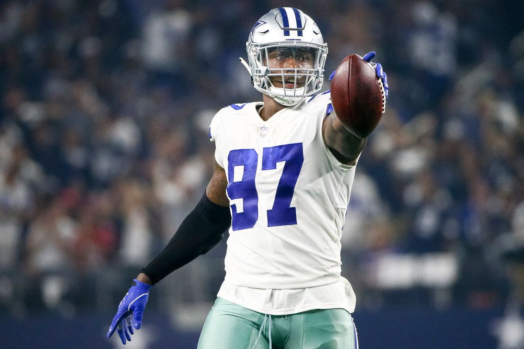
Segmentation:
[(111, 337), (116, 330), (122, 344), (126, 344), (126, 340), (131, 341), (131, 335), (135, 333), (133, 328), (138, 330), (142, 325), (150, 288), (151, 285), (141, 283), (137, 279), (133, 280), (124, 299), (118, 305), (116, 315), (107, 332), (107, 338)]

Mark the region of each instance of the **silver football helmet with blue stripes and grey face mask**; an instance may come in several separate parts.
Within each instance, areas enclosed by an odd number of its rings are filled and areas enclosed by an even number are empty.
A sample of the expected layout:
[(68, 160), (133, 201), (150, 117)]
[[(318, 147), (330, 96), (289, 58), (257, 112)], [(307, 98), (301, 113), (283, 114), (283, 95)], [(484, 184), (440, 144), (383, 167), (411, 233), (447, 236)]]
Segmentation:
[[(251, 29), (246, 50), (249, 64), (240, 60), (251, 74), (253, 86), (278, 103), (296, 105), (320, 91), (328, 44), (313, 19), (301, 10), (291, 7), (270, 10)], [(274, 50), (288, 55), (308, 52), (311, 66), (285, 69), (270, 66), (268, 52)], [(274, 82), (281, 87), (276, 87)]]

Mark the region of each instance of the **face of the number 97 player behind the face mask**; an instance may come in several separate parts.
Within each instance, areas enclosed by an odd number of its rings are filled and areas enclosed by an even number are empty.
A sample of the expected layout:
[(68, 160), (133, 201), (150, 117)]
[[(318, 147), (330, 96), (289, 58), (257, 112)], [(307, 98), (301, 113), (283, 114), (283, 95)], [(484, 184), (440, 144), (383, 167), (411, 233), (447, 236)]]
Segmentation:
[[(312, 69), (314, 66), (313, 53), (309, 48), (278, 47), (268, 50), (267, 55), (269, 69), (283, 69), (284, 74), (293, 74), (285, 77), (285, 86), (282, 85), (281, 76), (269, 76), (271, 83), (279, 88), (294, 88), (295, 69), (298, 69), (297, 73), (305, 74), (305, 69)], [(297, 88), (303, 87), (304, 84), (305, 76), (298, 75)]]

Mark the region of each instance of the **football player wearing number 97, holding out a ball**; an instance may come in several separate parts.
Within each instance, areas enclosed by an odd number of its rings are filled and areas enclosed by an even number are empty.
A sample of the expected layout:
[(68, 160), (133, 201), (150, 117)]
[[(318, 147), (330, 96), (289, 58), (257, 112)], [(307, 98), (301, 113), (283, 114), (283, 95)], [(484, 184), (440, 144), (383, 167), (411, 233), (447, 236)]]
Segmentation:
[[(225, 280), (200, 348), (357, 347), (355, 294), (341, 276), (341, 232), (366, 139), (320, 93), (328, 46), (301, 10), (272, 9), (249, 33), (247, 67), (263, 102), (211, 122), (214, 172), (166, 248), (136, 277), (107, 337), (140, 328), (151, 285), (209, 251), (229, 228)], [(364, 59), (370, 61), (375, 53)], [(387, 93), (386, 74), (374, 64)]]

